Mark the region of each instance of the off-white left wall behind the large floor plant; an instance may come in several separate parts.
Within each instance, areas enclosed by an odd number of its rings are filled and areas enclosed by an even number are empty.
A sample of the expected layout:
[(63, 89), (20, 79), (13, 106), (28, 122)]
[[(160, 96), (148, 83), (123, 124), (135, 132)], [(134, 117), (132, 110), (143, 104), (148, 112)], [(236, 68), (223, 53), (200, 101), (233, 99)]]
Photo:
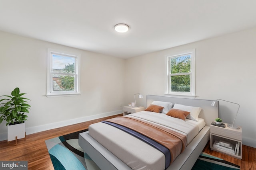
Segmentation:
[[(45, 96), (47, 48), (81, 55), (80, 96)], [(122, 113), (124, 59), (0, 32), (0, 96), (16, 87), (32, 100), (26, 134)], [(0, 127), (4, 140), (5, 123)]]

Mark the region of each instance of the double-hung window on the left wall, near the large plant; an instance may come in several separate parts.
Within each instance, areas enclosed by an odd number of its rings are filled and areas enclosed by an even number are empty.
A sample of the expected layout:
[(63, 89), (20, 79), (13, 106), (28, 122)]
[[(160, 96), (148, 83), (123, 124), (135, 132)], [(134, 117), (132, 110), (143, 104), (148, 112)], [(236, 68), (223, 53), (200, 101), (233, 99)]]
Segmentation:
[(46, 96), (80, 94), (80, 55), (48, 49)]

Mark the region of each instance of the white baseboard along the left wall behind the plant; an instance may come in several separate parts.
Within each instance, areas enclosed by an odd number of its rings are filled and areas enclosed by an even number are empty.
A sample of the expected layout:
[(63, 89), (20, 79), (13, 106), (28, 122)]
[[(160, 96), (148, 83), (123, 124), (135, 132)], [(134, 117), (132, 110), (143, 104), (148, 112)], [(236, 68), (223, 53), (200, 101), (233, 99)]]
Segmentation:
[[(28, 128), (26, 128), (26, 135), (30, 135), (32, 133), (38, 133), (38, 132), (42, 132), (42, 131), (47, 131), (47, 130), (55, 129), (58, 127), (74, 125), (76, 123), (82, 123), (85, 121), (90, 121), (90, 120), (99, 119), (102, 117), (121, 114), (121, 113), (123, 113), (123, 110), (111, 111), (111, 112), (107, 112), (107, 113), (100, 113), (98, 115), (90, 115), (90, 116), (86, 116), (86, 117), (80, 117), (80, 118), (76, 118), (76, 119), (70, 119), (70, 120), (60, 121), (60, 122), (56, 122), (56, 123), (50, 123), (50, 124), (46, 124), (46, 125), (28, 127)], [(0, 134), (0, 141), (4, 141), (4, 140), (7, 140), (7, 132)]]

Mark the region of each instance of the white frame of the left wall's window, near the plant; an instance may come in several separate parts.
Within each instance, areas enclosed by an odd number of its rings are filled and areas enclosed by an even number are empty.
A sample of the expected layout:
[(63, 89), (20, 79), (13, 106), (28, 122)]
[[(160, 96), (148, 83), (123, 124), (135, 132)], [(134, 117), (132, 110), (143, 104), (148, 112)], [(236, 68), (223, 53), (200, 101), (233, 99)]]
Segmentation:
[[(53, 79), (52, 79), (52, 55), (62, 55), (76, 58), (75, 65), (75, 86), (74, 91), (54, 91)], [(47, 97), (60, 97), (60, 96), (79, 96), (80, 95), (80, 54), (70, 53), (66, 51), (60, 51), (56, 49), (48, 48), (48, 65), (47, 65)]]

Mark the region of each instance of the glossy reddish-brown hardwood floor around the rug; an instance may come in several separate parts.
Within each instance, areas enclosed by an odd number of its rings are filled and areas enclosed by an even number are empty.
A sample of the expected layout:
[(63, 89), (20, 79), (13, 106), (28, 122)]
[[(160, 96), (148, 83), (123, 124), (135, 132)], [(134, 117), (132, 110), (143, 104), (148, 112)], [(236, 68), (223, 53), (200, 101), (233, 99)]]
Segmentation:
[[(92, 123), (112, 117), (115, 116), (26, 135), (26, 141), (19, 139), (17, 146), (15, 145), (15, 142), (8, 144), (7, 141), (2, 141), (0, 143), (0, 160), (26, 160), (28, 161), (28, 170), (54, 170), (44, 142), (45, 140), (87, 129)], [(256, 149), (245, 145), (243, 145), (242, 149), (242, 160), (211, 150), (209, 143), (206, 145), (203, 151), (237, 164), (241, 167), (241, 170), (256, 170)]]

